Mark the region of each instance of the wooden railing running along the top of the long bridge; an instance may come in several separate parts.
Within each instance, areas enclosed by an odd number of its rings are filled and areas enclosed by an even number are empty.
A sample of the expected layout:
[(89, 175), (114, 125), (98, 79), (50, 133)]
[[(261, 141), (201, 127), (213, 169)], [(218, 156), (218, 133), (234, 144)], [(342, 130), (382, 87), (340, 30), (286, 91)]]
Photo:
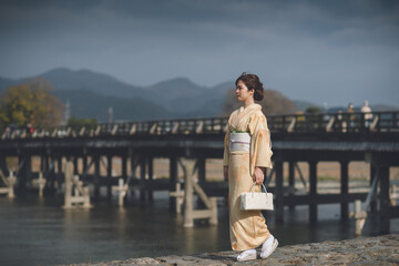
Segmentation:
[[(166, 134), (223, 134), (227, 117), (100, 123), (82, 126), (6, 129), (1, 140), (35, 137), (94, 137)], [(372, 113), (321, 113), (268, 115), (272, 133), (374, 133), (398, 132), (399, 111)]]

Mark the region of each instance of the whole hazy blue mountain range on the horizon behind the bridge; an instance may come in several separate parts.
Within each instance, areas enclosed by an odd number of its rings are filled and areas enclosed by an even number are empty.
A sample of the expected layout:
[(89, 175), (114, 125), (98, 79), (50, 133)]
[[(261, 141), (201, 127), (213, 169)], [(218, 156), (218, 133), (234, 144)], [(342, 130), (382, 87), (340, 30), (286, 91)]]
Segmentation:
[[(113, 108), (115, 120), (156, 120), (219, 116), (226, 93), (234, 82), (215, 86), (201, 86), (188, 79), (176, 78), (150, 86), (136, 86), (115, 78), (90, 70), (59, 68), (40, 74), (55, 88), (62, 102), (70, 101), (71, 113), (79, 117), (108, 121), (108, 110)], [(31, 76), (37, 78), (37, 76)], [(0, 93), (6, 88), (23, 83), (24, 79), (0, 78)], [(318, 104), (293, 101), (298, 111)], [(321, 106), (319, 106), (323, 110)], [(398, 110), (398, 106), (371, 105), (374, 111)], [(342, 109), (342, 110), (346, 110)], [(335, 112), (336, 109), (329, 109)]]

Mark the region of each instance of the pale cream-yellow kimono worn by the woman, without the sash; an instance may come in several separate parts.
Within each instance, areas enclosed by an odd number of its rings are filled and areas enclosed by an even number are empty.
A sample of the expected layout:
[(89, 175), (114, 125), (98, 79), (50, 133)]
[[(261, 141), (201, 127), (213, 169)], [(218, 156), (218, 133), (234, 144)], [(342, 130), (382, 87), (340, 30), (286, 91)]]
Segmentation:
[[(229, 151), (232, 131), (248, 132), (249, 152)], [(255, 166), (272, 168), (270, 134), (259, 104), (250, 104), (232, 113), (224, 141), (223, 165), (228, 166), (228, 211), (231, 242), (234, 250), (246, 250), (262, 245), (269, 236), (260, 211), (239, 209), (239, 196), (249, 192)]]

